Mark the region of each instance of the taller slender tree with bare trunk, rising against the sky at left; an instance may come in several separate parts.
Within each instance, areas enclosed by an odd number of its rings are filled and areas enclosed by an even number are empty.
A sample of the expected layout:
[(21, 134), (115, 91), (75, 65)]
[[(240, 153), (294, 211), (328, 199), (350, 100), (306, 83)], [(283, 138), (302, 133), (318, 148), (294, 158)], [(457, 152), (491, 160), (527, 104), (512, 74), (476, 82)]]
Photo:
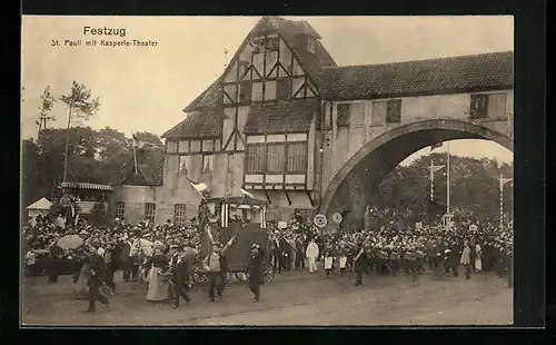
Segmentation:
[(66, 137), (66, 155), (63, 159), (63, 181), (66, 181), (68, 174), (68, 150), (70, 139), (71, 118), (73, 117), (78, 122), (81, 120), (89, 120), (95, 116), (100, 107), (98, 97), (91, 100), (91, 90), (83, 83), (73, 81), (71, 85), (71, 92), (61, 97), (61, 100), (68, 107), (68, 128)]

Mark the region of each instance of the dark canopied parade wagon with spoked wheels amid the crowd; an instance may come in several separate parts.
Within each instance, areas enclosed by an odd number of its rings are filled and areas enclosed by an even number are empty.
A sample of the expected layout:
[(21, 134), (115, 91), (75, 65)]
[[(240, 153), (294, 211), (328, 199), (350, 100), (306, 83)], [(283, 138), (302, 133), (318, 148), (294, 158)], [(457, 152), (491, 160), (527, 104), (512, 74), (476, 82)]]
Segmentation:
[[(242, 282), (249, 278), (249, 250), (254, 243), (268, 254), (267, 205), (268, 203), (249, 196), (211, 198), (201, 203), (199, 220), (205, 231), (200, 238), (200, 258), (207, 257), (214, 243), (225, 244), (232, 236), (237, 239), (226, 253), (229, 268), (226, 285), (231, 283), (234, 275)], [(272, 280), (270, 265), (266, 265), (264, 277), (265, 284)], [(197, 284), (206, 282), (207, 276), (200, 263), (196, 265), (192, 278)]]

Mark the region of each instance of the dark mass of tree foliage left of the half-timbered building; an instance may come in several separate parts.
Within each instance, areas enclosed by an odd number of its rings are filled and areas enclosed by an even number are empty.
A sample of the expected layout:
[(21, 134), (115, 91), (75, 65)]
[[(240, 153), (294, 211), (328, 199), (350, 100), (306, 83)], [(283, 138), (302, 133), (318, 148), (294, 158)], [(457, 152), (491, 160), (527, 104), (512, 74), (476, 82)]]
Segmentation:
[[(131, 157), (130, 141), (118, 130), (72, 127), (69, 131), (68, 181), (110, 184)], [(49, 128), (41, 131), (38, 141), (22, 141), (23, 206), (56, 195), (63, 175), (66, 136), (67, 129)], [(145, 136), (152, 142), (158, 139), (153, 134)], [(148, 150), (156, 157), (163, 155), (161, 144)]]

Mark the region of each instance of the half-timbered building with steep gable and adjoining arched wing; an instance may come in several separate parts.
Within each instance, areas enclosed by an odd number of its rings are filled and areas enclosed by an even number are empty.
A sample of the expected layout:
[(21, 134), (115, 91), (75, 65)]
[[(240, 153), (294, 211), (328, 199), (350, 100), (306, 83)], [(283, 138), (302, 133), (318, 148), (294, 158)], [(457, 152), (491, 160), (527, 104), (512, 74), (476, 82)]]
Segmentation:
[[(155, 219), (197, 216), (201, 197), (190, 180), (214, 197), (248, 190), (269, 201), (267, 219), (312, 214), (330, 204), (340, 180), (332, 177), (349, 157), (381, 134), (444, 115), (510, 126), (512, 85), (512, 52), (338, 67), (307, 21), (264, 17), (163, 134), (162, 186), (149, 197)], [(496, 115), (477, 118), (487, 108), (481, 95)]]

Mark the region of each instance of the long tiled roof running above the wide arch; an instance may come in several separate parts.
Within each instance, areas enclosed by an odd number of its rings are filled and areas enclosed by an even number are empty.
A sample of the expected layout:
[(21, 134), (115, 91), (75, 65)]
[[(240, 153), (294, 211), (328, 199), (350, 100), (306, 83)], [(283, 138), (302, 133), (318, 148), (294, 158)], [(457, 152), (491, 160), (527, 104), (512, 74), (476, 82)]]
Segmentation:
[(371, 99), (512, 88), (514, 52), (324, 68), (325, 99)]

